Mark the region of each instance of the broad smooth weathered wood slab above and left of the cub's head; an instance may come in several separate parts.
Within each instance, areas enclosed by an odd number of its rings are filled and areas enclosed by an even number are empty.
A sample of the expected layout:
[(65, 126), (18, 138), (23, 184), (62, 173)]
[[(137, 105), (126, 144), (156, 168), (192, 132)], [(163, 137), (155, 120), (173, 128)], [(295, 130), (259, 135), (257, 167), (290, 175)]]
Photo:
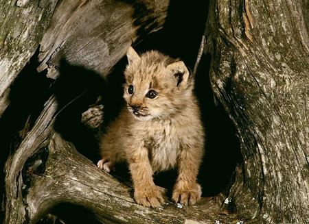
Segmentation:
[[(58, 4), (41, 42), (39, 71), (60, 58), (106, 75), (137, 38), (163, 27), (169, 1), (70, 0)], [(91, 16), (89, 16), (91, 15)]]

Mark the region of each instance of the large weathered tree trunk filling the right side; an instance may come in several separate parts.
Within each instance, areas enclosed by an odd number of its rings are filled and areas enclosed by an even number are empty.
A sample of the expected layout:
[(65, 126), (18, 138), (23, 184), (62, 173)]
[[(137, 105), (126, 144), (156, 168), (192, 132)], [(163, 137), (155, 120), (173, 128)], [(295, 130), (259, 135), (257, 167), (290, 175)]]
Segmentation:
[[(214, 1), (210, 78), (244, 163), (229, 199), (266, 223), (309, 220), (309, 38), (303, 1)], [(212, 44), (212, 45), (211, 45)]]

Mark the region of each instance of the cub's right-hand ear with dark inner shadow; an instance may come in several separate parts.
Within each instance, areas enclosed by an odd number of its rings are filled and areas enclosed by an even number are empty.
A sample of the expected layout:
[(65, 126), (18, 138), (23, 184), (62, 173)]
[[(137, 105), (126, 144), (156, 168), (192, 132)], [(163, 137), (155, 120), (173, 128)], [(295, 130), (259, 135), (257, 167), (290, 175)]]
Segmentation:
[(176, 80), (176, 86), (185, 87), (187, 86), (187, 79), (189, 78), (189, 71), (185, 66), (183, 61), (174, 62), (167, 66), (168, 69), (172, 71), (172, 75), (174, 75)]

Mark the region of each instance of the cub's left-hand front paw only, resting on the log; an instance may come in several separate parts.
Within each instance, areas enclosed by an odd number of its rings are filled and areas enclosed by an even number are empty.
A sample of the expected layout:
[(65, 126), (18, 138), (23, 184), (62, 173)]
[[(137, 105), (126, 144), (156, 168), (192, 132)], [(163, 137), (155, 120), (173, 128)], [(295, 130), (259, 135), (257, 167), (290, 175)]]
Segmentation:
[(145, 207), (159, 208), (163, 206), (164, 190), (158, 186), (141, 186), (140, 188), (135, 188), (134, 198), (137, 203)]

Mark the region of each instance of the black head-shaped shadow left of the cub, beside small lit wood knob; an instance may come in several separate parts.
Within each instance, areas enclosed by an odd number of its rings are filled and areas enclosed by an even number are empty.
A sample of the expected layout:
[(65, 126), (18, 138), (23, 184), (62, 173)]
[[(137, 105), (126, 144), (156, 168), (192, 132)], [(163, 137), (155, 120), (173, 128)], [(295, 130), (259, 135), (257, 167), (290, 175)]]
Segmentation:
[(60, 62), (60, 75), (52, 86), (58, 101), (58, 116), (54, 124), (62, 138), (73, 142), (76, 149), (93, 162), (98, 161), (98, 139), (82, 121), (82, 113), (89, 105), (105, 95), (105, 82), (98, 73), (82, 66)]

